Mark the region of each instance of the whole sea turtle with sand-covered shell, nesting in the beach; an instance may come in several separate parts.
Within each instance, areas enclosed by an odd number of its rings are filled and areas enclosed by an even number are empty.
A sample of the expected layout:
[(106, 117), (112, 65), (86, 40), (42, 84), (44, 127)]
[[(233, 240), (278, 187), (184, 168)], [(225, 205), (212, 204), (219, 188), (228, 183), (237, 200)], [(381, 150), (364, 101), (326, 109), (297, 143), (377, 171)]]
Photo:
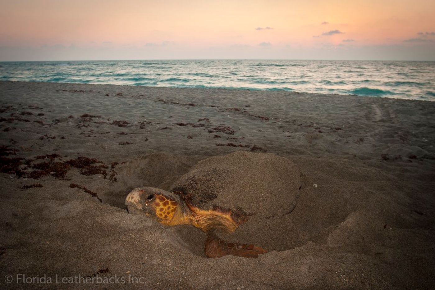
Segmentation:
[(238, 151), (201, 160), (169, 191), (135, 188), (125, 205), (129, 213), (145, 214), (167, 226), (189, 224), (201, 229), (207, 234), (207, 257), (255, 258), (267, 250), (248, 243), (227, 243), (218, 236), (233, 233), (248, 219), (261, 223), (287, 214), (295, 206), (299, 187), (300, 173), (287, 158)]

